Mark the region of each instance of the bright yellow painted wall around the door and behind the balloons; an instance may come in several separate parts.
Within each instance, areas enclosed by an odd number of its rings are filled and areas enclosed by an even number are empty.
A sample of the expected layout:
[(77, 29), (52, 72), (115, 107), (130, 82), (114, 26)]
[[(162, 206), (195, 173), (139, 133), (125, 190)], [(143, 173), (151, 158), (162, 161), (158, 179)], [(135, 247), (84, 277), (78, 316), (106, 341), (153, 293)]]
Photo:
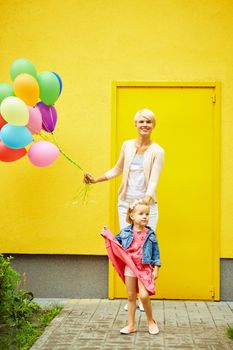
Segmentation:
[[(0, 13), (0, 80), (10, 81), (18, 57), (59, 73), (58, 137), (97, 175), (110, 165), (113, 80), (222, 83), (221, 257), (233, 258), (232, 1), (8, 0)], [(61, 156), (47, 169), (26, 158), (1, 163), (0, 174), (4, 251), (105, 253), (98, 234), (109, 223), (109, 184), (82, 207), (69, 203), (81, 175)]]

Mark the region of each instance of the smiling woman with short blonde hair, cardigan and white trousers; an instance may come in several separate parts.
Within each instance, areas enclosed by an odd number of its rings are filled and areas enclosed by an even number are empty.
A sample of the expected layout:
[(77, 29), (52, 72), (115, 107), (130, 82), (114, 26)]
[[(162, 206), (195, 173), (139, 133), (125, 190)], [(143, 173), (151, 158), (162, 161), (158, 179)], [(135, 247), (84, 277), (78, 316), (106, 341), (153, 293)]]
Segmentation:
[[(158, 221), (158, 202), (156, 189), (164, 162), (164, 150), (151, 140), (151, 133), (156, 125), (154, 113), (142, 109), (135, 114), (136, 139), (125, 141), (116, 165), (104, 175), (94, 178), (87, 173), (86, 183), (98, 183), (110, 180), (122, 173), (122, 183), (118, 192), (118, 214), (120, 229), (128, 224), (126, 214), (134, 199), (141, 199), (150, 204), (148, 225), (155, 230)], [(140, 310), (143, 311), (140, 305)]]

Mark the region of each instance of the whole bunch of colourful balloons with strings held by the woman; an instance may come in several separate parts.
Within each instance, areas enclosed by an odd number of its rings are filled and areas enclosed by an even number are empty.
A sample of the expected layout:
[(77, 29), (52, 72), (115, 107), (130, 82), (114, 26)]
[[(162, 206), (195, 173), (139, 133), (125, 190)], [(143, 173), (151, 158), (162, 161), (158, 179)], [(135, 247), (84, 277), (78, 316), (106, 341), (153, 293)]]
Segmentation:
[[(46, 167), (61, 153), (83, 171), (64, 153), (54, 134), (54, 103), (62, 92), (60, 76), (53, 71), (37, 73), (26, 58), (12, 63), (10, 75), (13, 86), (0, 83), (0, 161), (14, 162), (27, 155), (33, 165)], [(86, 192), (87, 187), (84, 196)]]

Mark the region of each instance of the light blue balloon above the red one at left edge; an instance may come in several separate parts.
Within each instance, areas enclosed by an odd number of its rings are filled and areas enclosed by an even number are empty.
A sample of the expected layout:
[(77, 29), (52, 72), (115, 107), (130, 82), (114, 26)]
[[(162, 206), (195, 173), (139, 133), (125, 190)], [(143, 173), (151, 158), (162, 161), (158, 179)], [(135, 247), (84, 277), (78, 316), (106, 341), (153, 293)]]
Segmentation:
[(23, 148), (32, 142), (33, 137), (26, 126), (5, 124), (1, 129), (4, 145), (10, 148)]

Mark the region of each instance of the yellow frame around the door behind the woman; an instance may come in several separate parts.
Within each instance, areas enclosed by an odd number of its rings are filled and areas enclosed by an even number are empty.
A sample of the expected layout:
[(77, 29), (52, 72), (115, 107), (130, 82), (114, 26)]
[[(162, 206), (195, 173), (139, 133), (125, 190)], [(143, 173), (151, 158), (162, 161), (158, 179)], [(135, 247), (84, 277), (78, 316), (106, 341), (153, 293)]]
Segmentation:
[[(212, 96), (214, 110), (214, 134), (213, 134), (213, 300), (219, 300), (220, 298), (220, 82), (112, 82), (112, 111), (111, 111), (111, 166), (113, 166), (118, 155), (116, 154), (116, 115), (117, 115), (117, 89), (121, 87), (152, 87), (152, 88), (213, 88), (214, 93)], [(112, 205), (117, 198), (117, 186), (116, 181), (110, 182), (110, 224), (111, 227), (116, 227), (116, 215), (115, 208)], [(109, 262), (109, 288), (108, 297), (114, 299), (114, 276), (115, 272), (112, 264)]]

